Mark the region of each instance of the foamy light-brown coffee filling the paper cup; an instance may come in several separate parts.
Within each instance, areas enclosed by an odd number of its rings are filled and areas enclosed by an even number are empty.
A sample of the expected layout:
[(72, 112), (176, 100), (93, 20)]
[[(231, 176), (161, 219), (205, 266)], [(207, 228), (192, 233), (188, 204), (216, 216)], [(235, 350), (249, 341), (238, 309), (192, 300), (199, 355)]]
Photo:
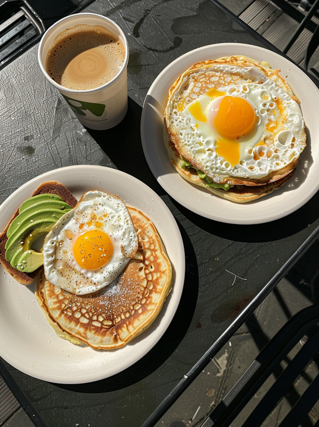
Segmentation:
[(101, 25), (76, 25), (61, 32), (46, 57), (46, 71), (61, 86), (94, 89), (112, 80), (125, 59), (122, 41)]

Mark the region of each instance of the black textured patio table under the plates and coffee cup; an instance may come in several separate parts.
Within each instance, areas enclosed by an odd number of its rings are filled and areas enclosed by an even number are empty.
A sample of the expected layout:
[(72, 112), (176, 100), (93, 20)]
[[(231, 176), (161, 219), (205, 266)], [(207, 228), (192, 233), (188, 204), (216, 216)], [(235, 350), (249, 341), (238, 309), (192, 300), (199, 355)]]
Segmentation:
[[(85, 10), (110, 17), (126, 33), (128, 113), (114, 129), (85, 132), (41, 75), (37, 45), (31, 47), (0, 71), (0, 202), (63, 166), (102, 165), (134, 175), (177, 221), (186, 257), (183, 293), (160, 341), (123, 372), (61, 385), (0, 359), (0, 375), (36, 426), (153, 426), (317, 239), (319, 194), (289, 216), (256, 225), (213, 221), (177, 203), (153, 176), (141, 144), (142, 106), (154, 79), (180, 55), (208, 44), (276, 49), (215, 1), (96, 0)], [(247, 280), (233, 285), (229, 271)]]

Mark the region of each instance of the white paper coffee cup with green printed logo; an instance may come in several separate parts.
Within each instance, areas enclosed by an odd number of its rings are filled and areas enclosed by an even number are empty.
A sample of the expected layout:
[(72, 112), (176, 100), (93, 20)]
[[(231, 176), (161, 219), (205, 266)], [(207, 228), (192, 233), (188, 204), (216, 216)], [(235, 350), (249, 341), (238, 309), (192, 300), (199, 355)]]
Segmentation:
[[(67, 28), (75, 25), (102, 25), (115, 34), (125, 48), (125, 59), (119, 73), (108, 83), (89, 90), (73, 90), (56, 83), (45, 69), (46, 57), (54, 39)], [(82, 125), (90, 129), (110, 129), (118, 125), (128, 109), (127, 65), (129, 46), (124, 32), (111, 19), (96, 13), (76, 13), (55, 22), (44, 33), (39, 49), (38, 60), (45, 78), (66, 100)]]

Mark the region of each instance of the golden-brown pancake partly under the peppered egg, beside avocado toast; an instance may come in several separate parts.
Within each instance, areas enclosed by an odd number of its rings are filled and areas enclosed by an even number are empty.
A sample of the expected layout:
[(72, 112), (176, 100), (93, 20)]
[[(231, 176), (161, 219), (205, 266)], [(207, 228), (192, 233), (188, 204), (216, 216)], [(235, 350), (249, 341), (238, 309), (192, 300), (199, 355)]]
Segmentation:
[(119, 278), (97, 292), (75, 295), (39, 276), (35, 295), (57, 335), (94, 349), (114, 349), (145, 331), (172, 286), (171, 265), (154, 224), (128, 206), (139, 251)]

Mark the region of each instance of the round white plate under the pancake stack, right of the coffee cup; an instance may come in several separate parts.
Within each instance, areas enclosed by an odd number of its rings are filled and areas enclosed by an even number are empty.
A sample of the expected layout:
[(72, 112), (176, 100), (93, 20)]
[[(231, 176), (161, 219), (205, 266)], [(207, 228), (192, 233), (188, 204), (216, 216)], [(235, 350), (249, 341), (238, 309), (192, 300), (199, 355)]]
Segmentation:
[[(163, 113), (168, 90), (176, 78), (197, 61), (244, 55), (280, 68), (301, 101), (307, 130), (307, 147), (294, 176), (279, 190), (250, 203), (222, 199), (190, 184), (175, 171), (163, 142)], [(221, 43), (192, 50), (169, 64), (155, 79), (144, 101), (141, 138), (147, 162), (164, 190), (178, 203), (203, 217), (232, 224), (258, 224), (284, 217), (303, 206), (319, 189), (319, 89), (296, 65), (262, 47)], [(314, 164), (313, 164), (314, 163)]]

